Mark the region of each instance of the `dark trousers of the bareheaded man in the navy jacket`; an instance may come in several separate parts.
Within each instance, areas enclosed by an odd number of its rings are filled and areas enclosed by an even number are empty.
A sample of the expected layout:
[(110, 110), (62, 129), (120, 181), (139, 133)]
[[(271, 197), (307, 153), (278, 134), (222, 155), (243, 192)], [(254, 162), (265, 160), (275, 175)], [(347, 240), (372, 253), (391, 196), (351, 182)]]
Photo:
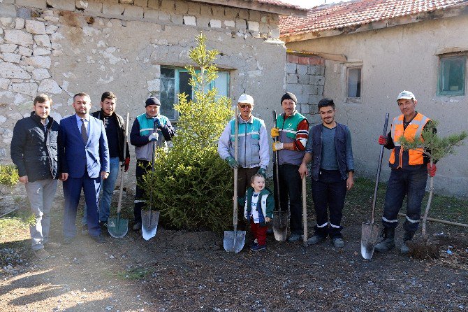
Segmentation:
[[(312, 199), (314, 200), (317, 225), (314, 227), (317, 236), (330, 238), (341, 237), (346, 180), (342, 179), (339, 170), (320, 169), (319, 180), (312, 179)], [(328, 227), (328, 210), (330, 227)]]

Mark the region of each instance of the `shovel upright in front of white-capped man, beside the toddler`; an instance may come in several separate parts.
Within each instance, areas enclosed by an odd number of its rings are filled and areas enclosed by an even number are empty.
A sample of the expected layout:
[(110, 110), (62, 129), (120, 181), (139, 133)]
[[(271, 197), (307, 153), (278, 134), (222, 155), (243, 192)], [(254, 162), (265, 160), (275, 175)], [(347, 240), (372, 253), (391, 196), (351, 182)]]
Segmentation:
[[(234, 159), (237, 162), (239, 146), (237, 137), (239, 136), (239, 108), (235, 108), (235, 128), (234, 128)], [(244, 248), (245, 231), (237, 231), (237, 169), (234, 169), (234, 205), (233, 205), (233, 227), (234, 231), (224, 231), (224, 250), (227, 252), (239, 253)]]

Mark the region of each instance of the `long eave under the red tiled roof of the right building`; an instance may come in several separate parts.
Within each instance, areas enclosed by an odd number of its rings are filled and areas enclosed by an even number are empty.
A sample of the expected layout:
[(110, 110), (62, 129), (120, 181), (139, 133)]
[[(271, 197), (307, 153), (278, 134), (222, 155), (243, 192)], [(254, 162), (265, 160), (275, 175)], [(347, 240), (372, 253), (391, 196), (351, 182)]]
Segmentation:
[(326, 29), (321, 31), (304, 31), (300, 34), (282, 34), (279, 38), (285, 43), (295, 41), (312, 40), (316, 38), (338, 36), (340, 34), (356, 34), (362, 31), (370, 31), (376, 29), (383, 29), (388, 27), (400, 26), (403, 24), (411, 24), (421, 22), (423, 20), (439, 20), (446, 17), (455, 17), (460, 15), (468, 15), (468, 3), (460, 3), (455, 6), (449, 6), (440, 10), (433, 10), (430, 12), (417, 13), (413, 15), (406, 15), (394, 17), (386, 20), (377, 20), (367, 24), (356, 24), (349, 27), (339, 29)]

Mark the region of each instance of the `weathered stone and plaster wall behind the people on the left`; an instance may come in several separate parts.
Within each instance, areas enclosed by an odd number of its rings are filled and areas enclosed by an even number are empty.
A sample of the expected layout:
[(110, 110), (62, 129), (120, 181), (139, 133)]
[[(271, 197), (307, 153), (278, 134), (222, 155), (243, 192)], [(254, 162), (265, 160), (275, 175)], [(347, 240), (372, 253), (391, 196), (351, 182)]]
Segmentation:
[(74, 113), (76, 92), (90, 94), (96, 111), (110, 90), (117, 113), (133, 120), (145, 111), (145, 99), (158, 94), (161, 65), (190, 64), (200, 31), (207, 47), (221, 52), (219, 67), (231, 73), (231, 99), (251, 94), (254, 113), (270, 126), (270, 106), (280, 108), (286, 75), (286, 49), (271, 40), (279, 36), (277, 15), (174, 0), (3, 0), (0, 162), (11, 162), (13, 126), (40, 92), (52, 96), (51, 115), (60, 120)]

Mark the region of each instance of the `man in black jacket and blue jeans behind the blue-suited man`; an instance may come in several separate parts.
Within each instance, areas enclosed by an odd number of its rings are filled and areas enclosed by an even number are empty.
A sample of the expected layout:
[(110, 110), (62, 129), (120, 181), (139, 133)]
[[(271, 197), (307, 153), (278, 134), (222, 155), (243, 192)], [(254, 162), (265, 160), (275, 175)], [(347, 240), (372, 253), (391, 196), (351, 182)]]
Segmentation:
[[(109, 145), (109, 165), (110, 172), (108, 178), (101, 180), (101, 201), (99, 203), (99, 225), (107, 227), (110, 202), (112, 201), (112, 192), (114, 191), (115, 182), (119, 175), (119, 162), (123, 162), (125, 172), (129, 170), (130, 152), (129, 145), (126, 146), (126, 155), (124, 155), (125, 144), (125, 122), (121, 115), (115, 113), (117, 97), (114, 93), (106, 91), (101, 96), (101, 111), (96, 111), (91, 115), (94, 118), (103, 121), (105, 134), (108, 138)], [(87, 211), (82, 218), (82, 234), (87, 234)]]

